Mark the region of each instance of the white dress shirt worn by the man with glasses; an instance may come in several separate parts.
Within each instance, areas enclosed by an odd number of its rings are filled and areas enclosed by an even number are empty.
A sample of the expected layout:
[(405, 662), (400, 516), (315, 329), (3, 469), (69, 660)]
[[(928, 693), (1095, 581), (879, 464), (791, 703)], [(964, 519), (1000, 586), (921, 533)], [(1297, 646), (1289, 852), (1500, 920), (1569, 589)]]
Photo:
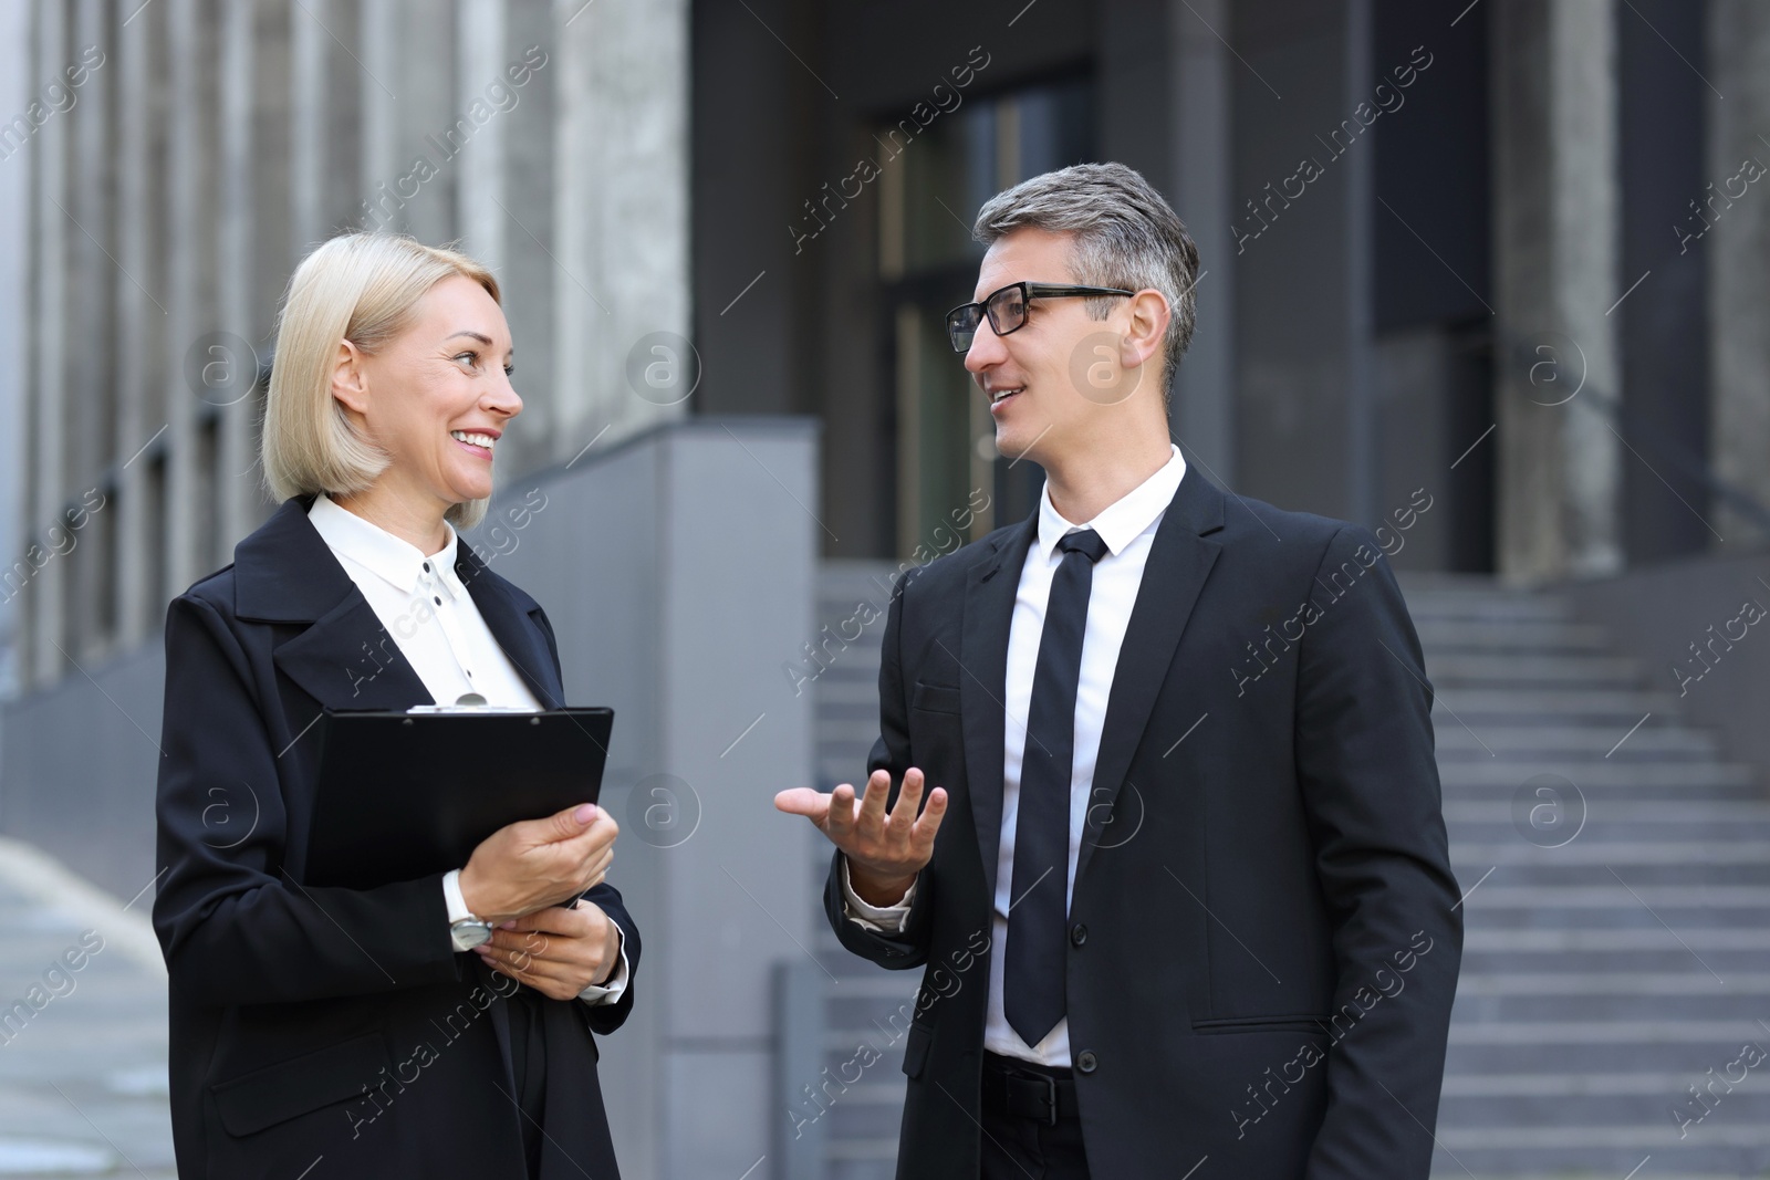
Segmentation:
[[(1186, 474), (1181, 448), (1168, 444), (1172, 455), (1156, 474), (1136, 485), (1110, 508), (1087, 524), (1071, 524), (1051, 506), (1050, 485), (1039, 494), (1039, 534), (1027, 550), (1020, 570), (1020, 589), (1014, 594), (1014, 617), (1007, 633), (1007, 724), (1002, 738), (1002, 844), (997, 851), (995, 923), (989, 955), (989, 1014), (984, 1023), (984, 1049), (1002, 1056), (1021, 1058), (1039, 1065), (1069, 1065), (1069, 1021), (1062, 1019), (1044, 1040), (1028, 1046), (1007, 1023), (1002, 1007), (1002, 975), (1007, 945), (1007, 911), (1014, 899), (1014, 835), (1020, 821), (1020, 766), (1027, 752), (1027, 713), (1032, 708), (1032, 676), (1039, 663), (1039, 639), (1044, 633), (1044, 605), (1051, 596), (1051, 579), (1062, 564), (1057, 541), (1078, 529), (1094, 529), (1106, 541), (1106, 556), (1094, 563), (1094, 580), (1089, 587), (1089, 621), (1081, 639), (1081, 676), (1076, 685), (1076, 743), (1069, 773), (1069, 881), (1064, 890), (1066, 906), (1076, 888), (1076, 858), (1081, 853), (1081, 833), (1087, 828), (1089, 803), (1094, 791), (1094, 762), (1099, 757), (1101, 727), (1106, 722), (1106, 701), (1112, 697), (1112, 679), (1119, 667), (1119, 647), (1124, 644), (1131, 607), (1143, 582), (1143, 564), (1156, 538), (1156, 525), (1174, 501)], [(848, 863), (843, 863), (843, 890), (848, 899), (848, 916), (860, 925), (887, 934), (903, 931), (915, 899), (915, 886), (896, 906), (869, 906), (848, 883)]]

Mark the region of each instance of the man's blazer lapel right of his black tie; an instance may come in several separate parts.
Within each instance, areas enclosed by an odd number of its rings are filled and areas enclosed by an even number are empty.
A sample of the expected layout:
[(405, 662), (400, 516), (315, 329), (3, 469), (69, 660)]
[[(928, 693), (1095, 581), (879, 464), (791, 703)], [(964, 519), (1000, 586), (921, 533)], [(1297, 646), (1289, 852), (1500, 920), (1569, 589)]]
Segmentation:
[(1191, 619), (1211, 566), (1223, 550), (1221, 543), (1205, 540), (1205, 534), (1221, 527), (1223, 494), (1195, 467), (1188, 467), (1156, 527), (1143, 580), (1136, 589), (1136, 605), (1131, 607), (1131, 621), (1119, 647), (1112, 695), (1106, 699), (1106, 720), (1101, 725), (1099, 757), (1094, 762), (1076, 881), (1081, 879), (1101, 842), (1104, 823), (1113, 814), (1112, 808), (1124, 785), (1126, 770), (1149, 725), (1156, 693), (1168, 678), (1181, 633)]

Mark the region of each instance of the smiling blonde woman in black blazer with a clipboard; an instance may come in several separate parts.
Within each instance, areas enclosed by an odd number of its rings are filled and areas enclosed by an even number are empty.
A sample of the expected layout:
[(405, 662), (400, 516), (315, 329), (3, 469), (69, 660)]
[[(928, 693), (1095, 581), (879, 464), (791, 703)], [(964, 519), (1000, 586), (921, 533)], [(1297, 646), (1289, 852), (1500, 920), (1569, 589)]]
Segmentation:
[(563, 704), (547, 616), (455, 533), (522, 410), (510, 373), (497, 280), (464, 255), (354, 234), (290, 280), (264, 423), (281, 508), (166, 614), (181, 1175), (618, 1175), (593, 1037), (632, 1008), (639, 936), (602, 883), (607, 814), (512, 824), (418, 881), (303, 879), (322, 709)]

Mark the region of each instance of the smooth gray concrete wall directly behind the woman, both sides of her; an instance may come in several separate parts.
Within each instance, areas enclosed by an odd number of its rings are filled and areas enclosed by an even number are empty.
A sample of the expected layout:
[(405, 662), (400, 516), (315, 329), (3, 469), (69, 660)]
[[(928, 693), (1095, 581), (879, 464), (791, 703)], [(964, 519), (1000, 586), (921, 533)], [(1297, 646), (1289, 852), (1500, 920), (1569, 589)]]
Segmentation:
[[(644, 961), (602, 1079), (635, 1180), (745, 1175), (779, 1122), (773, 975), (809, 957), (816, 833), (772, 798), (812, 784), (782, 665), (816, 633), (816, 471), (809, 419), (694, 419), (506, 481), (467, 538), (545, 607), (568, 701), (616, 711), (611, 881)], [(0, 711), (0, 833), (124, 899), (154, 877), (163, 667), (154, 635)]]

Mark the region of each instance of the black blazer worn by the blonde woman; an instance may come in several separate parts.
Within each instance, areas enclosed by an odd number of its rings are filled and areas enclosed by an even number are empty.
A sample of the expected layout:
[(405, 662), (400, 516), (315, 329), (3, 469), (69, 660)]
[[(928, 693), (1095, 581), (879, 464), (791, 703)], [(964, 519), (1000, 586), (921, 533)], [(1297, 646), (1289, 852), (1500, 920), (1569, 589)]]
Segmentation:
[[(289, 1180), (324, 1155), (315, 1176), (520, 1180), (508, 1053), (520, 985), (453, 950), (441, 876), (361, 892), (303, 881), (322, 706), (430, 702), (308, 524), (310, 502), (285, 502), (166, 612), (154, 927), (179, 1175)], [(547, 616), (466, 545), (457, 561), (524, 681), (561, 704)], [(586, 897), (620, 923), (637, 969), (620, 893)], [(549, 1180), (616, 1176), (593, 1033), (632, 1003), (632, 985), (605, 1007), (540, 1000)]]

